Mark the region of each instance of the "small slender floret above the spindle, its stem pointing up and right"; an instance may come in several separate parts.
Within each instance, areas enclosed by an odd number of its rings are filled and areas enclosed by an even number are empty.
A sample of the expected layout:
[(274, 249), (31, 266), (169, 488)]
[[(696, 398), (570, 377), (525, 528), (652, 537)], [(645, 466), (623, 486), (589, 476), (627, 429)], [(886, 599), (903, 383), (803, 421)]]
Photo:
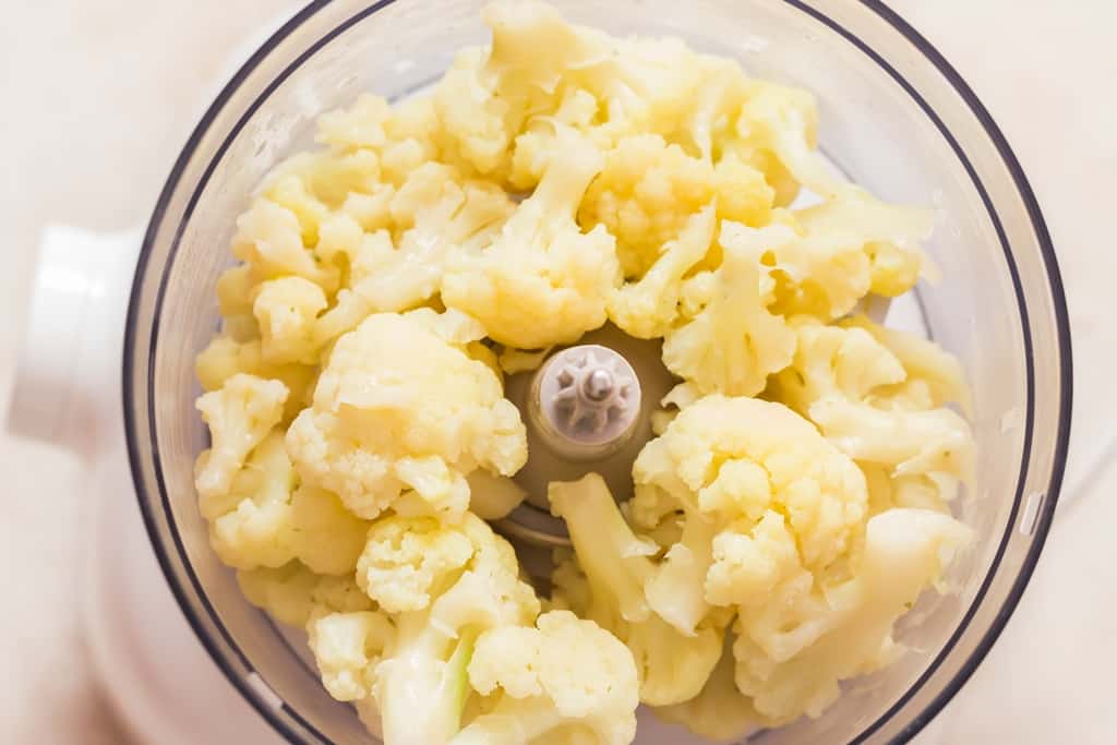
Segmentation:
[(679, 315), (682, 277), (701, 261), (714, 240), (713, 208), (693, 216), (677, 238), (639, 281), (628, 283), (609, 298), (609, 319), (639, 338), (668, 333)]

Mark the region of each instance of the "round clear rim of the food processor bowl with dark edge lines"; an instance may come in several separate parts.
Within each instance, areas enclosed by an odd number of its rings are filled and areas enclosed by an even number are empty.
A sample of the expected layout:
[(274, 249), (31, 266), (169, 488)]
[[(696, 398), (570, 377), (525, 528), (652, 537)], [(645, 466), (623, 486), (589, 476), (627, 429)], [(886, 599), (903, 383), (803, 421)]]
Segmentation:
[[(916, 31), (911, 26), (909, 26), (898, 13), (887, 8), (880, 0), (859, 0), (860, 3), (868, 10), (876, 13), (881, 20), (887, 22), (895, 31), (900, 34), (906, 38), (916, 50), (918, 50), (924, 58), (930, 63), (938, 71), (943, 75), (946, 82), (954, 88), (958, 96), (965, 102), (970, 107), (971, 113), (976, 117), (977, 122), (982, 125), (985, 134), (989, 136), (993, 146), (996, 149), (997, 154), (1001, 157), (1002, 163), (1008, 169), (1013, 184), (1016, 189), (1018, 195), (1024, 204), (1024, 209), (1028, 211), (1029, 219), (1031, 221), (1032, 231), (1034, 232), (1035, 239), (1040, 247), (1040, 252), (1042, 255), (1043, 264), (1047, 269), (1047, 279), (1049, 285), (1049, 290), (1051, 293), (1051, 300), (1053, 306), (1053, 315), (1056, 323), (1056, 334), (1058, 336), (1059, 346), (1059, 375), (1060, 375), (1060, 399), (1058, 403), (1058, 424), (1054, 432), (1054, 450), (1052, 452), (1052, 465), (1051, 465), (1051, 478), (1046, 490), (1046, 497), (1040, 506), (1039, 514), (1035, 517), (1035, 525), (1032, 531), (1032, 542), (1028, 548), (1028, 554), (1021, 564), (1020, 572), (1016, 575), (1015, 582), (1012, 584), (1009, 594), (1002, 604), (996, 617), (993, 619), (989, 630), (984, 633), (981, 640), (977, 642), (974, 651), (970, 657), (963, 662), (958, 672), (953, 679), (946, 685), (944, 690), (936, 696), (932, 703), (920, 711), (913, 722), (905, 727), (895, 738), (894, 742), (906, 742), (914, 737), (923, 727), (925, 727), (949, 701), (949, 699), (958, 691), (958, 689), (968, 680), (970, 676), (977, 668), (981, 661), (989, 653), (993, 643), (1000, 637), (1008, 623), (1009, 618), (1015, 610), (1016, 604), (1023, 594), (1024, 589), (1031, 579), (1032, 572), (1035, 569), (1035, 564), (1039, 561), (1039, 556), (1042, 552), (1043, 544), (1047, 541), (1047, 535), (1051, 527), (1051, 522), (1054, 516), (1054, 510), (1059, 500), (1059, 489), (1062, 484), (1063, 471), (1067, 461), (1067, 448), (1070, 437), (1070, 416), (1071, 416), (1071, 401), (1072, 401), (1072, 362), (1071, 362), (1071, 341), (1070, 341), (1070, 323), (1067, 315), (1067, 302), (1066, 294), (1063, 292), (1062, 279), (1059, 273), (1058, 260), (1054, 254), (1054, 247), (1051, 241), (1051, 236), (1048, 231), (1047, 222), (1043, 219), (1042, 212), (1040, 210), (1039, 203), (1035, 199), (1035, 194), (1024, 175), (1023, 169), (1020, 165), (1019, 160), (1013, 153), (1011, 146), (1008, 143), (1004, 134), (1001, 132), (1000, 127), (993, 121), (989, 111), (981, 103), (977, 95), (973, 89), (965, 83), (958, 71), (943, 57), (943, 55), (918, 31)], [(218, 649), (218, 646), (213, 639), (204, 630), (204, 624), (201, 619), (195, 614), (194, 609), (191, 606), (189, 598), (187, 596), (185, 590), (179, 584), (175, 579), (173, 569), (170, 562), (171, 552), (176, 552), (182, 560), (183, 567), (188, 574), (191, 584), (193, 585), (193, 591), (198, 595), (201, 605), (203, 606), (206, 613), (209, 615), (208, 621), (213, 624), (213, 627), (223, 637), (225, 643), (228, 649), (235, 655), (240, 657), (241, 663), (251, 669), (251, 665), (240, 652), (237, 644), (233, 642), (232, 638), (229, 636), (228, 631), (225, 629), (220, 619), (217, 617), (212, 606), (209, 604), (206, 593), (194, 575), (190, 563), (185, 561), (185, 553), (182, 547), (180, 536), (174, 527), (174, 524), (169, 522), (171, 536), (164, 536), (159, 532), (157, 519), (155, 513), (153, 512), (156, 507), (152, 503), (152, 495), (149, 495), (144, 487), (143, 477), (143, 456), (137, 442), (142, 438), (151, 440), (152, 452), (154, 455), (154, 471), (156, 481), (159, 484), (160, 499), (162, 509), (170, 514), (170, 505), (166, 495), (165, 485), (163, 481), (162, 467), (159, 459), (159, 441), (155, 432), (154, 420), (149, 422), (137, 421), (136, 411), (133, 405), (134, 394), (137, 393), (137, 381), (132, 371), (130, 362), (134, 359), (136, 353), (136, 314), (139, 312), (139, 296), (142, 290), (142, 280), (147, 270), (147, 264), (151, 258), (152, 247), (156, 235), (159, 232), (159, 227), (163, 220), (164, 213), (166, 211), (168, 203), (179, 184), (179, 180), (182, 176), (187, 164), (197, 151), (200, 141), (203, 139), (204, 134), (208, 132), (209, 126), (212, 124), (217, 114), (225, 108), (229, 99), (233, 96), (240, 84), (245, 78), (260, 64), (260, 61), (275, 49), (275, 47), (286, 39), (297, 27), (299, 27), (307, 19), (317, 13), (322, 8), (328, 6), (331, 0), (315, 0), (296, 16), (294, 16), (287, 23), (285, 23), (276, 34), (274, 34), (250, 58), (245, 65), (237, 71), (237, 74), (230, 79), (230, 82), (221, 89), (220, 94), (214, 99), (213, 104), (207, 109), (206, 114), (202, 116), (200, 123), (194, 128), (190, 139), (188, 140), (182, 153), (179, 155), (171, 170), (171, 174), (168, 178), (166, 183), (160, 193), (159, 200), (156, 202), (155, 209), (152, 213), (151, 221), (149, 222), (146, 233), (144, 236), (143, 247), (140, 251), (140, 258), (136, 264), (136, 273), (132, 286), (132, 296), (128, 305), (127, 314), (127, 325), (125, 328), (124, 337), (124, 355), (122, 360), (123, 370), (123, 401), (124, 401), (124, 424), (125, 434), (127, 439), (127, 450), (128, 450), (128, 462), (132, 470), (133, 483), (136, 489), (136, 497), (140, 503), (140, 510), (143, 515), (144, 524), (147, 528), (149, 537), (152, 542), (152, 546), (159, 557), (160, 566), (163, 574), (168, 579), (168, 583), (171, 585), (171, 590), (174, 593), (175, 600), (182, 608), (183, 613), (187, 617), (191, 628), (193, 628), (195, 634), (198, 636), (200, 642), (204, 646), (207, 651), (213, 658), (214, 663), (222, 670), (229, 681), (237, 688), (238, 691), (257, 709), (257, 711), (262, 716), (281, 736), (292, 742), (294, 745), (299, 745), (302, 741), (298, 738), (296, 733), (292, 732), (288, 724), (283, 720), (278, 715), (278, 710), (269, 705), (266, 705), (256, 694), (251, 687), (246, 682), (245, 678), (236, 670), (233, 670), (228, 661), (223, 657), (223, 651)], [(395, 0), (381, 0), (381, 2), (374, 3), (364, 10), (351, 16), (347, 20), (343, 21), (323, 38), (315, 41), (306, 51), (299, 55), (294, 61), (292, 61), (283, 73), (277, 76), (260, 94), (260, 96), (248, 107), (246, 113), (233, 126), (229, 136), (222, 143), (222, 145), (217, 151), (217, 156), (214, 162), (220, 160), (221, 155), (225, 153), (231, 140), (239, 133), (247, 120), (255, 113), (255, 111), (260, 106), (260, 104), (271, 94), (271, 92), (285, 80), (292, 71), (294, 71), (305, 59), (315, 54), (321, 47), (327, 44), (330, 40), (338, 36), (341, 32), (353, 26), (354, 23), (361, 21), (362, 19), (371, 16), (372, 13), (379, 11), (380, 9), (392, 4)], [(943, 648), (943, 651), (930, 662), (925, 672), (916, 680), (916, 682), (899, 698), (899, 700), (890, 707), (881, 717), (873, 722), (869, 727), (860, 733), (856, 738), (855, 743), (860, 743), (870, 737), (876, 733), (896, 711), (903, 708), (908, 700), (923, 687), (924, 682), (929, 678), (935, 670), (939, 667), (945, 656), (949, 652), (953, 646), (956, 643), (957, 638), (965, 631), (970, 621), (972, 620), (977, 608), (989, 589), (989, 585), (996, 574), (996, 569), (1000, 565), (1000, 560), (1003, 555), (1004, 547), (1008, 541), (1008, 536), (1014, 529), (1015, 518), (1021, 508), (1021, 497), (1023, 489), (1023, 475), (1027, 472), (1029, 459), (1031, 455), (1031, 443), (1033, 434), (1033, 418), (1034, 418), (1034, 372), (1033, 372), (1033, 354), (1032, 354), (1032, 341), (1030, 328), (1028, 325), (1028, 308), (1023, 299), (1023, 290), (1020, 285), (1020, 279), (1016, 273), (1015, 264), (1012, 258), (1011, 247), (1009, 246), (1008, 238), (1004, 233), (1003, 227), (1000, 222), (1000, 218), (996, 212), (992, 209), (992, 202), (987, 195), (987, 190), (984, 188), (981, 179), (977, 176), (976, 171), (973, 169), (965, 152), (962, 150), (961, 145), (957, 143), (951, 131), (942, 122), (934, 109), (927, 104), (926, 101), (919, 96), (918, 92), (904, 78), (904, 76), (887, 60), (881, 58), (876, 51), (872, 50), (867, 44), (861, 41), (857, 36), (844, 29), (840, 23), (831, 19), (829, 16), (822, 11), (810, 7), (804, 0), (783, 0), (784, 3), (791, 6), (804, 15), (811, 17), (815, 21), (824, 25), (829, 29), (839, 34), (847, 41), (852, 44), (861, 52), (866, 54), (870, 59), (872, 59), (885, 73), (887, 73), (897, 84), (899, 84), (905, 92), (911, 96), (913, 101), (924, 111), (928, 118), (935, 124), (939, 133), (946, 139), (952, 149), (954, 150), (960, 162), (963, 164), (965, 170), (968, 172), (974, 187), (977, 189), (985, 203), (986, 211), (989, 212), (990, 219), (992, 220), (999, 239), (1002, 245), (1002, 249), (1005, 255), (1005, 259), (1012, 276), (1013, 286), (1016, 292), (1016, 300), (1019, 305), (1019, 312), (1023, 325), (1023, 346), (1024, 346), (1024, 357), (1027, 365), (1027, 390), (1028, 390), (1028, 416), (1024, 427), (1024, 448), (1021, 458), (1021, 477), (1018, 479), (1016, 494), (1013, 499), (1012, 510), (1010, 513), (1009, 526), (1006, 528), (1005, 535), (1002, 537), (1001, 545), (997, 548), (997, 553), (994, 557), (993, 564), (990, 567), (986, 577), (974, 598), (973, 603), (970, 609), (963, 615), (962, 622), (958, 624), (954, 634), (947, 640)], [(211, 172), (213, 163), (207, 166), (203, 172), (201, 182), (194, 190), (188, 208), (187, 218), (189, 218), (194, 204), (197, 203), (198, 197), (201, 190), (204, 188)], [(175, 246), (171, 247), (170, 256), (171, 264), (173, 264), (173, 256), (176, 250), (176, 242), (181, 237), (181, 228), (175, 235)], [(154, 308), (154, 321), (155, 327), (153, 328), (152, 340), (150, 348), (146, 351), (149, 357), (154, 356), (154, 350), (157, 344), (157, 321), (161, 312), (163, 294), (165, 289), (166, 275), (164, 274), (161, 278), (161, 284), (157, 293), (156, 304)], [(141, 381), (144, 385), (142, 395), (149, 401), (149, 404), (153, 402), (154, 391), (151, 386), (151, 381)], [(298, 713), (284, 706), (283, 711), (292, 716), (299, 724), (305, 727), (308, 732), (317, 736), (323, 742), (326, 738), (322, 733), (317, 732), (309, 723), (303, 719)]]

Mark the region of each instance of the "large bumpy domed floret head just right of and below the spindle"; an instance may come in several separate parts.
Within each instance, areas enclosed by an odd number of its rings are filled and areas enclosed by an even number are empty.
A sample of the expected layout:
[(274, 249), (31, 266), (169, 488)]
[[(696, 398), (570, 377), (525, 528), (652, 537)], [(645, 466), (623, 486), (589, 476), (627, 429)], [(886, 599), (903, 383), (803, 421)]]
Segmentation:
[(756, 399), (715, 394), (682, 409), (645, 446), (632, 475), (718, 525), (710, 570), (696, 573), (715, 604), (731, 600), (732, 583), (723, 580), (750, 564), (735, 550), (764, 545), (756, 529), (767, 512), (787, 516), (799, 561), (821, 572), (857, 545), (868, 503), (865, 477), (849, 458), (786, 407)]

